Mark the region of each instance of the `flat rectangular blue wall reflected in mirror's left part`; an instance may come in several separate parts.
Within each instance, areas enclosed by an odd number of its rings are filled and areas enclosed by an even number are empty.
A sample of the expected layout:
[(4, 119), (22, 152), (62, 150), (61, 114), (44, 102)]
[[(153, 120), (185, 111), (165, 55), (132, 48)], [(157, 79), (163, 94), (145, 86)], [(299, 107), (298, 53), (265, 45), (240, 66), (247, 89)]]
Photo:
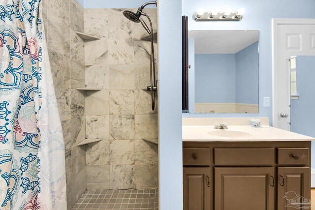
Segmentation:
[(195, 54), (195, 102), (235, 103), (235, 54)]

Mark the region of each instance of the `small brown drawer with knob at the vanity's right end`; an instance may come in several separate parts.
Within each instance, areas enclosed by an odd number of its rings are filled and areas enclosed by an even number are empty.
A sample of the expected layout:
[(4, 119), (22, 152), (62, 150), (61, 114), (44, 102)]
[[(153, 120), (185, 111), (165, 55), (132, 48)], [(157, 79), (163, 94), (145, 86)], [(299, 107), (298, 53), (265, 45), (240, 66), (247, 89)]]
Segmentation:
[(279, 165), (307, 165), (309, 164), (308, 148), (278, 148)]

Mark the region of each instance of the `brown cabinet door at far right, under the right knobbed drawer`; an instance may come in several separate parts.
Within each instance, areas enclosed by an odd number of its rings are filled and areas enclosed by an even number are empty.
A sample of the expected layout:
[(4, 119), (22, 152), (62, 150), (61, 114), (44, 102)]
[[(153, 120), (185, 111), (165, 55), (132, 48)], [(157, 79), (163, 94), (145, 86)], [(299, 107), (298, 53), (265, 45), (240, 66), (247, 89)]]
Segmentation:
[(278, 168), (278, 210), (311, 209), (309, 167)]

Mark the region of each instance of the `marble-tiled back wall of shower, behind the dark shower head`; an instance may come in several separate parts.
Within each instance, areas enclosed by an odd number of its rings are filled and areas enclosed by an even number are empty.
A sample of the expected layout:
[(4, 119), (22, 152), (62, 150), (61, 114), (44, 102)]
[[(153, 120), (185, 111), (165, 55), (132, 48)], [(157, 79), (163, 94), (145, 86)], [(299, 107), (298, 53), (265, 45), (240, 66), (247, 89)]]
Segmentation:
[[(84, 10), (85, 32), (100, 38), (85, 44), (85, 83), (101, 89), (86, 91), (86, 136), (102, 139), (87, 146), (87, 189), (158, 187), (158, 145), (142, 140), (158, 138), (158, 108), (142, 90), (150, 85), (151, 43), (124, 10)], [(156, 33), (157, 9), (144, 12)]]

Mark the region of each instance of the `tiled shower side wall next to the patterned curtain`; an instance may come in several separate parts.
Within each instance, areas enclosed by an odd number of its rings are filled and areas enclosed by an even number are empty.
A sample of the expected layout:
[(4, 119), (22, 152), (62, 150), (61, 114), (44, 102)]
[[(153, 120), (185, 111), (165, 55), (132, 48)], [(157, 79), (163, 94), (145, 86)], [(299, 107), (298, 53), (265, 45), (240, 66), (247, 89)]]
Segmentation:
[(85, 148), (75, 141), (85, 138), (85, 97), (75, 88), (85, 87), (83, 7), (77, 0), (43, 0), (49, 58), (65, 143), (68, 210), (86, 190)]

